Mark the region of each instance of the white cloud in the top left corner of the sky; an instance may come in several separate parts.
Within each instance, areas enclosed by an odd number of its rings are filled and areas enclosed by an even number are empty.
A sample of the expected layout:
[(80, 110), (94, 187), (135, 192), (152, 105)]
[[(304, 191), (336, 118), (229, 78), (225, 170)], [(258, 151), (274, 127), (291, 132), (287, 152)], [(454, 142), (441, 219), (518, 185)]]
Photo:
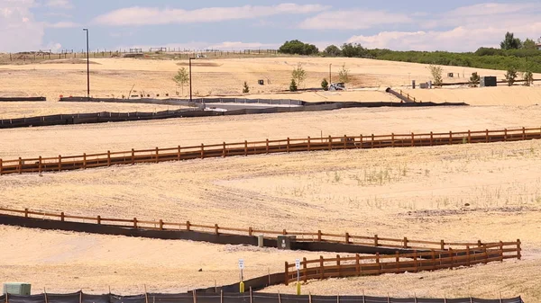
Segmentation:
[(41, 49), (43, 24), (31, 12), (33, 0), (0, 0), (0, 41), (2, 51)]

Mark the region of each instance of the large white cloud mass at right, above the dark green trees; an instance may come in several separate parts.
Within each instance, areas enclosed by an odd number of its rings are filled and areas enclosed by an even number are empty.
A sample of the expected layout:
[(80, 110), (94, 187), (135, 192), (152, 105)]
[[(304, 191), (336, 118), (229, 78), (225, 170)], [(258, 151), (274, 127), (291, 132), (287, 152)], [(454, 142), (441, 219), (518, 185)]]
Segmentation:
[(417, 19), (417, 31), (355, 35), (348, 42), (368, 48), (475, 51), (500, 46), (507, 31), (522, 40), (541, 35), (541, 4), (474, 4)]

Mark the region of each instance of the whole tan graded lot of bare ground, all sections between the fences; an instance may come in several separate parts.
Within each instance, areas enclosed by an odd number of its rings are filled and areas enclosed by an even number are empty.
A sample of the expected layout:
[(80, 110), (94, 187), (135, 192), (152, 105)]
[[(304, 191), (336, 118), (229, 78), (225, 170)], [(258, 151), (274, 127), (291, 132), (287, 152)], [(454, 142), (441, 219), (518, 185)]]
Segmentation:
[[(145, 94), (174, 95), (175, 85), (170, 79), (186, 63), (119, 58), (95, 61), (98, 64), (92, 65), (92, 77), (96, 97), (127, 94), (133, 85), (136, 94), (144, 90)], [(328, 76), (329, 64), (337, 71), (344, 62), (352, 71), (353, 86), (381, 87), (341, 93), (275, 94), (287, 87), (290, 71), (298, 62), (308, 71), (306, 87), (319, 86), (321, 79)], [(249, 81), (251, 98), (315, 102), (396, 101), (383, 92), (385, 87), (407, 85), (409, 77), (417, 81), (430, 77), (422, 65), (346, 58), (224, 59), (197, 62), (194, 68), (197, 95), (239, 95), (243, 81)], [(445, 73), (459, 71), (465, 75), (472, 71), (481, 76), (502, 74), (445, 67)], [(265, 79), (266, 85), (255, 85), (258, 79)], [(0, 94), (55, 98), (59, 94), (83, 95), (85, 80), (84, 66), (76, 64), (2, 66)], [(468, 102), (470, 107), (347, 109), (4, 129), (0, 131), (0, 158), (69, 156), (265, 138), (539, 127), (541, 107), (536, 103), (540, 90), (518, 86), (404, 89), (422, 101)], [(15, 104), (3, 115), (39, 115), (41, 111), (49, 112), (46, 106), (51, 103), (57, 106), (56, 102), (41, 102), (35, 108)], [(78, 104), (69, 104), (66, 106), (78, 108)], [(100, 103), (81, 104), (81, 109), (95, 105), (115, 105), (126, 111), (146, 106)], [(149, 106), (164, 110), (163, 106)], [(489, 298), (498, 298), (501, 291), (503, 297), (522, 295), (527, 302), (536, 302), (541, 300), (535, 287), (535, 282), (541, 280), (540, 156), (541, 141), (537, 140), (239, 156), (41, 176), (4, 175), (0, 177), (0, 204), (11, 209), (64, 211), (92, 217), (190, 220), (194, 224), (218, 223), (220, 227), (307, 232), (321, 229), (428, 241), (520, 238), (523, 261), (454, 271), (309, 281), (303, 291), (315, 295), (362, 294), (365, 290), (367, 295), (376, 296), (389, 293), (396, 297), (417, 294)], [(114, 292), (132, 294), (141, 293), (144, 284), (149, 290), (185, 291), (213, 286), (215, 281), (237, 281), (238, 258), (245, 259), (249, 278), (269, 270), (283, 271), (285, 261), (319, 255), (15, 227), (0, 227), (0, 236), (10, 247), (0, 252), (0, 276), (30, 281), (37, 289), (45, 287), (49, 292), (81, 288), (105, 292), (111, 286)], [(203, 272), (197, 272), (199, 268)], [(266, 291), (275, 290), (295, 291), (285, 286)]]

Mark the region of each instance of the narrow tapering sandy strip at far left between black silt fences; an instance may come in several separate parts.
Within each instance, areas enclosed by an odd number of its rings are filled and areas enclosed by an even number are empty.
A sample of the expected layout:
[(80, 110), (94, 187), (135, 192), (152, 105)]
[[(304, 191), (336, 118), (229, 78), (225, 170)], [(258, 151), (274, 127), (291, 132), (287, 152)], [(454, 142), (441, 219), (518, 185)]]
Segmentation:
[(0, 102), (0, 120), (24, 117), (39, 117), (60, 113), (88, 112), (155, 112), (178, 110), (179, 106), (142, 104), (142, 103), (107, 103), (107, 102)]

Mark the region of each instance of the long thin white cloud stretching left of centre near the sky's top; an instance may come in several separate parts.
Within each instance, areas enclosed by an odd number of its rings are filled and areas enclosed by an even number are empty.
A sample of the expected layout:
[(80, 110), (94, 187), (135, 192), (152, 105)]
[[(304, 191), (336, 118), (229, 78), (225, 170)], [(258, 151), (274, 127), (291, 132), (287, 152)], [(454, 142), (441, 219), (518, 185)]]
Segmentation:
[(93, 22), (104, 25), (222, 22), (278, 14), (316, 13), (327, 8), (327, 6), (320, 4), (277, 4), (271, 6), (207, 7), (186, 11), (182, 9), (134, 6), (99, 15)]

